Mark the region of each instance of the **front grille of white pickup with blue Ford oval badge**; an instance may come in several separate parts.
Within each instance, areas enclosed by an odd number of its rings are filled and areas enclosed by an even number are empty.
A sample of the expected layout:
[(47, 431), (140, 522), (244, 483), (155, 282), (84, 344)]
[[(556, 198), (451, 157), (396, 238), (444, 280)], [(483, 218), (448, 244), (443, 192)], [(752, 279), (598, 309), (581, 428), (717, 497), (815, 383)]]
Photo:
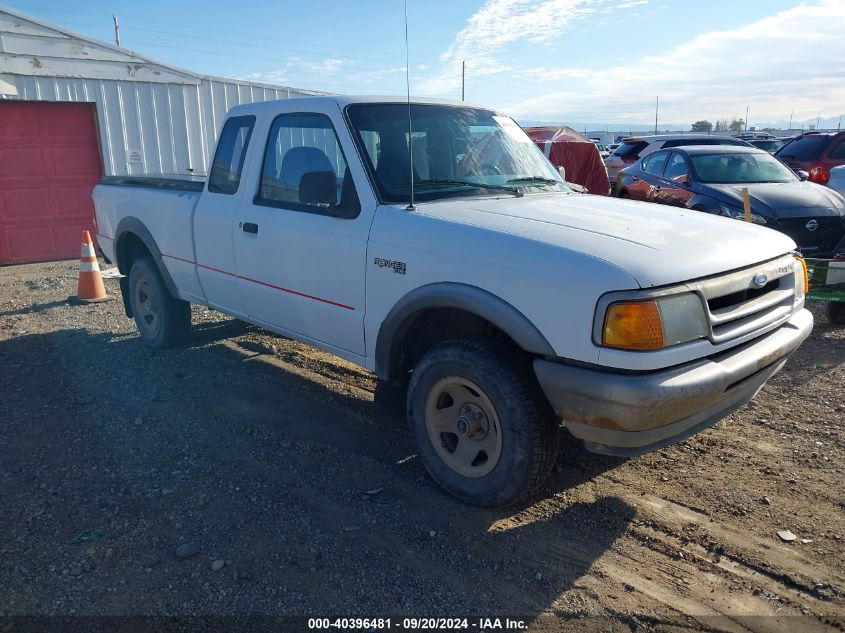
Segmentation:
[(787, 255), (687, 285), (704, 297), (710, 340), (718, 344), (787, 318), (795, 283), (795, 260)]

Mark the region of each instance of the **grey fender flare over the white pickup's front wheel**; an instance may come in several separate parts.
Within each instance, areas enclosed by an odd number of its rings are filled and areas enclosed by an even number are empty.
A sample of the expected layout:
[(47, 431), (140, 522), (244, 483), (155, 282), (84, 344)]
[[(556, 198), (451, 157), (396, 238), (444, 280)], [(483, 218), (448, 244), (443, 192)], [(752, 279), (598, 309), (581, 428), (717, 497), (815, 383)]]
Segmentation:
[(401, 364), (402, 343), (414, 320), (425, 310), (455, 308), (486, 319), (510, 336), (526, 352), (556, 356), (546, 337), (522, 312), (476, 286), (437, 282), (420, 286), (402, 297), (388, 312), (376, 338), (375, 372), (391, 380)]

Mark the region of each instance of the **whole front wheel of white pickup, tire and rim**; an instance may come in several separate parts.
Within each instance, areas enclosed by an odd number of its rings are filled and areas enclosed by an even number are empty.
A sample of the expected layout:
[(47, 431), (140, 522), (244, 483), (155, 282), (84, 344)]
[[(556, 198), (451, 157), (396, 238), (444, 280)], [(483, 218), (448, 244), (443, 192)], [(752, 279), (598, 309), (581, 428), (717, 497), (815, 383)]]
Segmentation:
[(432, 478), (473, 505), (518, 502), (543, 484), (557, 458), (560, 422), (531, 359), (491, 339), (429, 350), (408, 385), (408, 421)]

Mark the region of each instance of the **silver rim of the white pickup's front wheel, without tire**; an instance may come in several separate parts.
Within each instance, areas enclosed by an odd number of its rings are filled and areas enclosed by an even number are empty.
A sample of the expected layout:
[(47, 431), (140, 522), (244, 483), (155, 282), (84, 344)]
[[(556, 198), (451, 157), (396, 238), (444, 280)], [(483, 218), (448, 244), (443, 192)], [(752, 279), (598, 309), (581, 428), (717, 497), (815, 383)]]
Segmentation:
[(464, 477), (484, 477), (502, 457), (502, 425), (487, 394), (471, 380), (447, 376), (425, 401), (425, 426), (437, 455)]

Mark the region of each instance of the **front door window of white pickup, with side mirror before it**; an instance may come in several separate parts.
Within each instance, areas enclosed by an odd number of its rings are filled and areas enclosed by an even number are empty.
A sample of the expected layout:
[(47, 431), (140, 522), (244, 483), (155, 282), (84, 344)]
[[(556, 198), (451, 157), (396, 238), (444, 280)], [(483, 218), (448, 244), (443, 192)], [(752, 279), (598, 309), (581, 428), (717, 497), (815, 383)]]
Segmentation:
[(255, 204), (354, 218), (361, 211), (334, 126), (324, 114), (282, 114), (270, 127)]

